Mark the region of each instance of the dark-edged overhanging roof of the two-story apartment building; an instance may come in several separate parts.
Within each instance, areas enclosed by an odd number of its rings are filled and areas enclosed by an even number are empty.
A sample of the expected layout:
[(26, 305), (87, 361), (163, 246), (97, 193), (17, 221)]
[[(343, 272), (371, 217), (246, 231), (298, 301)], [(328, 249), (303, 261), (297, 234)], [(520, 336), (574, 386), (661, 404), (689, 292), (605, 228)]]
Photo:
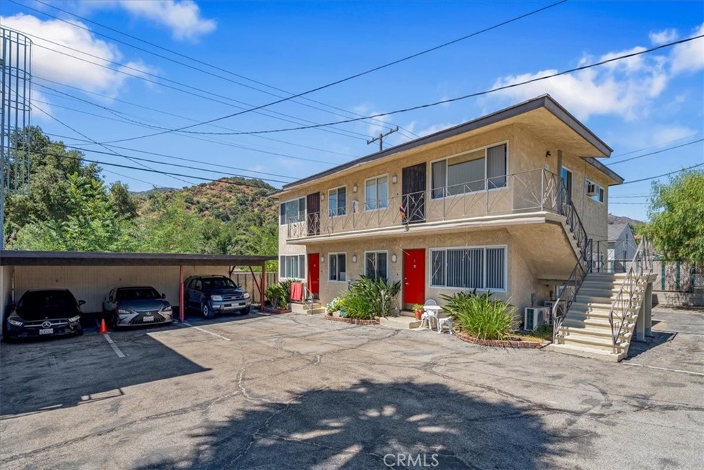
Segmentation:
[[(410, 142), (405, 142), (403, 144), (396, 145), (396, 147), (391, 147), (390, 149), (386, 149), (384, 151), (377, 151), (375, 154), (370, 154), (367, 156), (360, 157), (358, 159), (348, 161), (346, 163), (342, 163), (341, 165), (334, 166), (325, 171), (321, 171), (320, 173), (315, 173), (314, 175), (310, 175), (306, 178), (301, 178), (300, 180), (292, 181), (291, 183), (283, 185), (282, 189), (277, 192), (274, 192), (272, 196), (275, 196), (279, 192), (290, 190), (291, 188), (296, 187), (298, 185), (303, 185), (305, 183), (310, 183), (311, 181), (318, 180), (318, 178), (324, 178), (325, 176), (333, 175), (334, 173), (339, 173), (340, 171), (344, 171), (348, 168), (353, 168), (354, 166), (358, 166), (361, 163), (369, 163), (370, 161), (383, 159), (387, 156), (398, 154), (402, 151), (414, 149), (415, 147), (420, 147), (421, 145), (437, 142), (448, 137), (454, 137), (455, 135), (460, 135), (465, 132), (469, 132), (470, 130), (483, 128), (487, 125), (498, 123), (502, 120), (513, 118), (515, 116), (519, 116), (520, 114), (527, 113), (529, 111), (534, 111), (535, 109), (540, 108), (545, 108), (551, 113), (553, 113), (553, 115), (560, 119), (562, 123), (565, 123), (565, 125), (567, 125), (570, 129), (576, 132), (577, 135), (586, 140), (586, 142), (589, 142), (589, 144), (591, 144), (598, 151), (601, 151), (601, 153), (605, 156), (611, 155), (611, 152), (613, 151), (611, 147), (609, 147), (603, 140), (597, 137), (596, 134), (591, 132), (591, 130), (589, 130), (586, 125), (582, 124), (581, 122), (579, 122), (579, 120), (577, 120), (577, 118), (572, 116), (572, 114), (570, 114), (567, 109), (563, 108), (557, 101), (555, 101), (553, 97), (551, 97), (549, 94), (543, 94), (539, 97), (529, 99), (528, 101), (524, 101), (520, 104), (515, 104), (513, 106), (509, 106), (508, 108), (504, 108), (494, 113), (487, 114), (486, 116), (482, 116), (481, 118), (470, 120), (466, 123), (455, 125), (454, 127), (435, 132), (434, 134), (426, 135), (425, 137), (420, 137), (418, 139), (411, 140)], [(620, 180), (620, 182), (623, 183), (623, 178), (617, 175), (614, 171), (609, 170), (603, 164), (596, 161), (596, 159), (586, 159), (586, 161), (592, 166), (595, 166), (599, 170), (607, 173), (611, 178), (615, 180)], [(599, 165), (597, 165), (596, 163), (599, 163)]]

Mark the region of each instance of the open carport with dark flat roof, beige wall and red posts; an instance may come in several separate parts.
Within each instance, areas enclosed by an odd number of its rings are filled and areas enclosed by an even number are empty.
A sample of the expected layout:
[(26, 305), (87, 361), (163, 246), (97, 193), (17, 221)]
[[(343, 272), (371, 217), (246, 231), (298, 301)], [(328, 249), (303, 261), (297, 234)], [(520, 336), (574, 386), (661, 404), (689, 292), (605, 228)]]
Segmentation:
[[(84, 313), (102, 310), (103, 297), (119, 285), (151, 285), (179, 307), (184, 321), (184, 285), (188, 276), (221, 274), (247, 268), (253, 299), (265, 304), (266, 261), (276, 256), (232, 254), (105, 253), (0, 251), (0, 314), (28, 289), (66, 288), (86, 301)], [(260, 268), (254, 271), (253, 268)], [(177, 302), (175, 302), (177, 300)]]

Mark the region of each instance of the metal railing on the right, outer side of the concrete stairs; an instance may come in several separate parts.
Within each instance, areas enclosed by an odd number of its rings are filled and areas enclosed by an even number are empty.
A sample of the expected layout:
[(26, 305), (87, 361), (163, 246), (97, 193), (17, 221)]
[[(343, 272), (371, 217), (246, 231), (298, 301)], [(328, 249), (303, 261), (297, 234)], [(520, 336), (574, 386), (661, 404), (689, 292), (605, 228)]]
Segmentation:
[(626, 277), (621, 283), (621, 287), (616, 298), (609, 309), (609, 324), (611, 326), (611, 342), (613, 352), (617, 354), (619, 338), (623, 332), (624, 323), (631, 314), (634, 307), (634, 297), (643, 276), (650, 276), (653, 273), (653, 244), (646, 237), (641, 238), (641, 242), (633, 256)]

